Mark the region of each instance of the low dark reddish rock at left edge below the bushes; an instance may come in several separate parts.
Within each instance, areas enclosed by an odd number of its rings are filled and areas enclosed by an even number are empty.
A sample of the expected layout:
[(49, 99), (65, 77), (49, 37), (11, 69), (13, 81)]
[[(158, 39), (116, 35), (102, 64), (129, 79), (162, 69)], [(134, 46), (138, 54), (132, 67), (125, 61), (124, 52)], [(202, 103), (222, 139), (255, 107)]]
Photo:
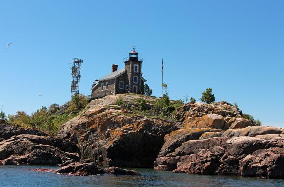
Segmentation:
[[(0, 164), (57, 165), (79, 160), (74, 143), (47, 136), (36, 129), (0, 125)], [(25, 134), (27, 133), (27, 134)]]

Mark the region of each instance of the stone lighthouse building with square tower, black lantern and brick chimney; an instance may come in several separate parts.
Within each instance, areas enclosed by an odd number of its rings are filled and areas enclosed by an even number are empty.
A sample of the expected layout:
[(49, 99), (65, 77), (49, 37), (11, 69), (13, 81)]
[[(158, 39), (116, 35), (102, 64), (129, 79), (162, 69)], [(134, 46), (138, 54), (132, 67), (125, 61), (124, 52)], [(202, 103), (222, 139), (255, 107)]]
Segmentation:
[(145, 78), (142, 76), (142, 58), (133, 46), (128, 58), (124, 58), (124, 69), (118, 70), (118, 65), (112, 64), (112, 72), (97, 80), (92, 86), (92, 98), (104, 97), (119, 93), (141, 93)]

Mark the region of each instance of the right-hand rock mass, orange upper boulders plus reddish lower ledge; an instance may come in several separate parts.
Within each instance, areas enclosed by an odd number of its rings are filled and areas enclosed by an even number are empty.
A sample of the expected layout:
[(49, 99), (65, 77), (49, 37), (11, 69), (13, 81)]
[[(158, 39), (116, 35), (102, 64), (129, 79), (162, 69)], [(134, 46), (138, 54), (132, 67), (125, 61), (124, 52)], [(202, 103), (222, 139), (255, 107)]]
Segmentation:
[(186, 104), (154, 168), (192, 174), (284, 177), (284, 131), (255, 126), (227, 102)]

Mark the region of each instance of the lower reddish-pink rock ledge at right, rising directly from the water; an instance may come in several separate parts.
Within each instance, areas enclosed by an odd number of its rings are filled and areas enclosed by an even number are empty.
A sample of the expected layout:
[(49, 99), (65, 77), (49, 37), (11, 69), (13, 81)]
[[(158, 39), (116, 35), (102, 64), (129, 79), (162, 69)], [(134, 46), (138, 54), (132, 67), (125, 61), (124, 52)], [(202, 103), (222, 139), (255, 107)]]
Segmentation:
[(215, 137), (190, 140), (159, 157), (155, 169), (253, 177), (284, 177), (284, 139)]

